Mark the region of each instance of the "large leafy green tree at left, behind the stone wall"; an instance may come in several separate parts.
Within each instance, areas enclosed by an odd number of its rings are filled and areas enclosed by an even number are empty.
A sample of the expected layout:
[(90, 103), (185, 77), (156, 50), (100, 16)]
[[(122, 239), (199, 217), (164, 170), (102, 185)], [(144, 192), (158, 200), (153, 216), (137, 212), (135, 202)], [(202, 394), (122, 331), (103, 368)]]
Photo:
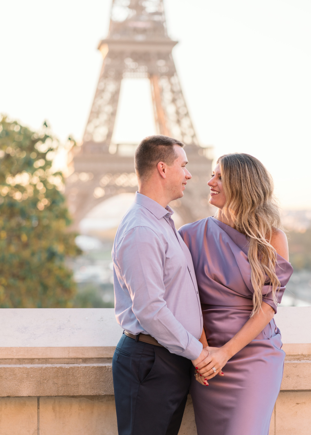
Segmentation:
[[(43, 124), (44, 125), (44, 124)], [(80, 250), (67, 231), (59, 143), (6, 117), (0, 121), (0, 307), (70, 307), (76, 294), (66, 256)]]

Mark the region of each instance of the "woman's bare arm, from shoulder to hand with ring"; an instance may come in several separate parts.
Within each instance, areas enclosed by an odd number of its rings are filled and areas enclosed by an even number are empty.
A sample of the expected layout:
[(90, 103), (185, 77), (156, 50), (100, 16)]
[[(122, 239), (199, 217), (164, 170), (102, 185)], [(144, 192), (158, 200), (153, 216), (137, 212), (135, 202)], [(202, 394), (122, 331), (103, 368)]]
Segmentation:
[[(271, 238), (271, 245), (286, 261), (288, 261), (288, 241), (286, 234), (278, 230)], [(200, 373), (204, 380), (214, 378), (215, 375), (224, 367), (227, 361), (233, 357), (238, 351), (243, 349), (248, 343), (250, 343), (258, 334), (268, 325), (268, 323), (274, 317), (274, 309), (266, 304), (266, 302), (261, 303), (261, 310), (257, 312), (252, 318), (247, 320), (245, 325), (234, 335), (231, 340), (229, 340), (221, 348), (211, 348), (207, 346), (207, 350), (210, 352), (208, 355), (210, 361), (207, 365), (201, 363), (197, 365), (197, 372)], [(212, 367), (216, 369), (212, 370)]]

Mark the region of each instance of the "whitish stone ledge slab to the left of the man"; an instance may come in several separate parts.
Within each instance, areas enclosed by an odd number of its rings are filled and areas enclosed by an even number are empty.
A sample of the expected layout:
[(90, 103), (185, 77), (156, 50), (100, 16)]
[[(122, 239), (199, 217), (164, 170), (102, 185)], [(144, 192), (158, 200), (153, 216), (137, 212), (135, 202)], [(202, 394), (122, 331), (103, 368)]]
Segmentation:
[(1, 308), (0, 348), (116, 346), (113, 308)]

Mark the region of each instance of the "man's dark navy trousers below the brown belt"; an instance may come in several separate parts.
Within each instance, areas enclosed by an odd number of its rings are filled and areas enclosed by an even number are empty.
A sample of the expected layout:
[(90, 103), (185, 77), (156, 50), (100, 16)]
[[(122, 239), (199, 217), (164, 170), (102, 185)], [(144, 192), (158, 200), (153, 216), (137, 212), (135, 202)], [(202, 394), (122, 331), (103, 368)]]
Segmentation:
[(192, 363), (123, 334), (112, 360), (119, 435), (177, 435)]

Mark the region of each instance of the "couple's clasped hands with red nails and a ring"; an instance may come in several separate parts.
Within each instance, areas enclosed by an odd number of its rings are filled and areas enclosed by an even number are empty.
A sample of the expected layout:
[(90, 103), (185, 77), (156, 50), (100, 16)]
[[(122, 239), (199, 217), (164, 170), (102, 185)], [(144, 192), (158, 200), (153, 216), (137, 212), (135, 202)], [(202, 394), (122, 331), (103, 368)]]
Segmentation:
[[(229, 355), (224, 348), (213, 348), (207, 346), (203, 349), (204, 353), (206, 351), (207, 355), (200, 362), (197, 360), (192, 361), (196, 368), (196, 376), (198, 382), (202, 385), (208, 385), (208, 379), (214, 378), (217, 374), (224, 376), (222, 368), (226, 365)], [(201, 356), (201, 355), (200, 355)], [(216, 371), (212, 369), (214, 367)]]

